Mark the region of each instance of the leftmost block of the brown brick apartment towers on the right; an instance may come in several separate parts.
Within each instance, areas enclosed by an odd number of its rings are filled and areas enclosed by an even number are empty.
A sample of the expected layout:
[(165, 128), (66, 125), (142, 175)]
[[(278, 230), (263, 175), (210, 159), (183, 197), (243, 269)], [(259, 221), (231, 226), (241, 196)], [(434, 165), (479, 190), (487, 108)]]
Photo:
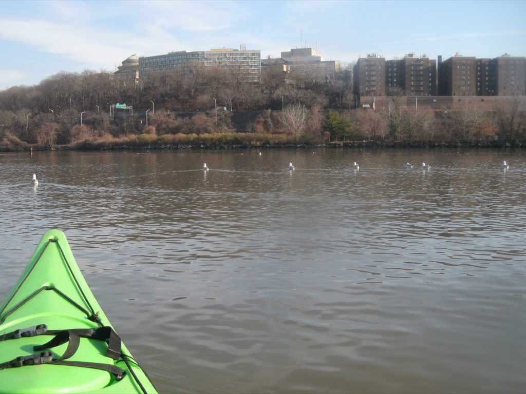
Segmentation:
[(386, 59), (368, 54), (359, 58), (354, 67), (355, 94), (359, 97), (386, 95)]

